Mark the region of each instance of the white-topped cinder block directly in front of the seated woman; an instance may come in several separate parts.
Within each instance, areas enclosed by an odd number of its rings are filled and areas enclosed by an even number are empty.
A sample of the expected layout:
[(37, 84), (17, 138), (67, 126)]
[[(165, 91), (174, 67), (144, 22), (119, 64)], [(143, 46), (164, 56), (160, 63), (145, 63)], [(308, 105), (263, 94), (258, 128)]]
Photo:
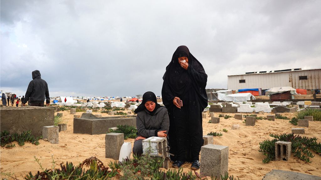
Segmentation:
[(149, 137), (143, 140), (143, 154), (150, 149), (150, 156), (168, 157), (166, 137)]

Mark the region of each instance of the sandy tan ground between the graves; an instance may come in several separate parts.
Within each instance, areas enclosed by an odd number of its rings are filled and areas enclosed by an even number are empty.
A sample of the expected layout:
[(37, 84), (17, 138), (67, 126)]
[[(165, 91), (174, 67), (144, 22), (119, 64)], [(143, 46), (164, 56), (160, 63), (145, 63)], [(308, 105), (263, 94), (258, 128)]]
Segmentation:
[[(104, 164), (108, 164), (112, 159), (105, 158), (105, 135), (87, 135), (73, 134), (73, 115), (70, 111), (61, 111), (63, 119), (67, 123), (67, 131), (59, 133), (59, 144), (51, 144), (43, 140), (39, 140), (39, 145), (25, 143), (24, 146), (19, 146), (7, 149), (1, 147), (0, 151), (0, 171), (2, 173), (14, 173), (19, 179), (29, 171), (36, 173), (40, 171), (35, 158), (40, 160), (43, 168), (52, 168), (52, 157), (55, 161), (56, 168), (60, 163), (73, 162), (78, 164), (91, 156), (96, 156)], [(77, 112), (77, 115), (82, 112)], [(93, 112), (100, 114), (100, 112)], [(232, 113), (228, 115), (234, 116)], [(268, 113), (259, 114), (258, 116), (266, 117)], [(293, 117), (292, 113), (283, 113), (282, 115)], [(109, 116), (102, 113), (102, 116)], [(218, 114), (215, 114), (218, 117)], [(240, 179), (262, 179), (263, 176), (272, 169), (280, 169), (286, 171), (294, 171), (306, 173), (316, 176), (321, 176), (321, 156), (315, 154), (312, 158), (312, 163), (306, 163), (302, 160), (291, 156), (289, 161), (271, 161), (267, 164), (262, 163), (265, 157), (258, 152), (259, 142), (265, 139), (273, 139), (269, 133), (282, 134), (291, 133), (291, 128), (296, 127), (288, 122), (288, 120), (276, 119), (275, 121), (257, 120), (256, 126), (245, 126), (242, 121), (229, 118), (221, 118), (220, 124), (208, 123), (210, 120), (209, 114), (206, 119), (203, 119), (203, 134), (220, 132), (223, 136), (214, 137), (214, 144), (229, 146), (229, 174)], [(239, 124), (241, 129), (231, 130), (233, 124)], [(228, 132), (222, 132), (226, 128)], [(321, 140), (321, 122), (310, 121), (309, 127), (306, 127), (305, 136), (317, 137), (317, 142)], [(127, 139), (125, 142), (134, 143), (134, 139)], [(184, 171), (190, 171), (191, 164), (184, 164)], [(199, 173), (199, 170), (197, 171)], [(1, 176), (3, 178), (4, 176)]]

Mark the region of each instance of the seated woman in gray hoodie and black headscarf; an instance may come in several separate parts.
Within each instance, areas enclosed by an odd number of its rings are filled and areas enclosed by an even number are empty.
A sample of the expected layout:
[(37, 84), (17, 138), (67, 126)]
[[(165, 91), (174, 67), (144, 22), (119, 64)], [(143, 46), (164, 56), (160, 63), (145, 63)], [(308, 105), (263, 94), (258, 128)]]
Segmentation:
[(143, 95), (143, 102), (134, 111), (136, 116), (137, 137), (135, 138), (133, 154), (143, 154), (143, 140), (152, 136), (167, 137), (169, 117), (165, 106), (157, 103), (153, 92)]

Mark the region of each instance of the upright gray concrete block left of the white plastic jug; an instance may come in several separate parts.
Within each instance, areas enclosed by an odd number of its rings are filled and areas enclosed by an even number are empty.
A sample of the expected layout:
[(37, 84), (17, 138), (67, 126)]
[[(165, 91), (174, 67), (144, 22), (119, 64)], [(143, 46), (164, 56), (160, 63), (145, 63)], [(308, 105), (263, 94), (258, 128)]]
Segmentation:
[(124, 133), (108, 133), (105, 136), (105, 158), (119, 159), (120, 148), (124, 143)]

